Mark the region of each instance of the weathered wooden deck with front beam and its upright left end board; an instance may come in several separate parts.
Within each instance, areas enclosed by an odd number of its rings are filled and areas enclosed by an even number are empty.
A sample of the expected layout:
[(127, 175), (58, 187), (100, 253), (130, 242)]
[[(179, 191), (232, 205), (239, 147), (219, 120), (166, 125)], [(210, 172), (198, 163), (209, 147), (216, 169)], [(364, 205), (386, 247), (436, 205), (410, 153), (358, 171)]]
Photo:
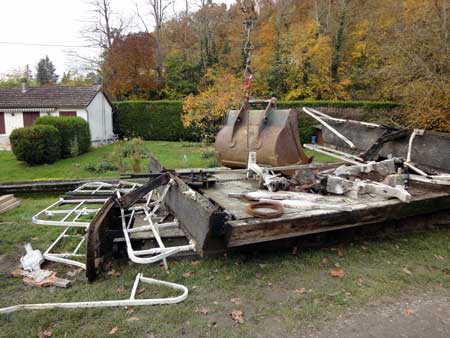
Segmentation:
[[(161, 167), (151, 169), (158, 172)], [(340, 201), (335, 209), (285, 208), (280, 218), (261, 219), (245, 212), (246, 201), (229, 197), (230, 193), (258, 190), (255, 181), (247, 180), (242, 172), (218, 173), (213, 177), (217, 181), (214, 186), (197, 191), (175, 178), (176, 184), (166, 198), (199, 254), (450, 210), (450, 189), (414, 184), (409, 189), (410, 203), (374, 196), (339, 196), (335, 197)], [(324, 197), (324, 201), (330, 200), (333, 197)]]

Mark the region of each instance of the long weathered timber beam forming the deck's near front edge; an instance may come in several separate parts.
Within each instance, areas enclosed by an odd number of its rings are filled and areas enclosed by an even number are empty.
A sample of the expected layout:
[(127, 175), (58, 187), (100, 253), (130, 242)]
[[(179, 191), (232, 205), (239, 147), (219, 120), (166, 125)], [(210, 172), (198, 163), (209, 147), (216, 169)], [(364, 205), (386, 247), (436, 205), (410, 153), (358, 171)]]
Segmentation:
[(227, 222), (227, 247), (253, 244), (307, 234), (402, 219), (450, 209), (447, 193), (415, 196), (410, 203), (398, 200), (352, 205), (352, 211), (312, 210), (278, 219), (246, 219)]

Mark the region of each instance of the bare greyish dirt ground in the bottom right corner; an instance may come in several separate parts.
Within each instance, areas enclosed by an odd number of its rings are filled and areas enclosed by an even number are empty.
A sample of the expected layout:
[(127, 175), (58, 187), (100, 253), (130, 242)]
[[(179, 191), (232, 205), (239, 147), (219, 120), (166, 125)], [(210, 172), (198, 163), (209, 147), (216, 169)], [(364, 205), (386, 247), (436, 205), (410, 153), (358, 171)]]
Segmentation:
[(383, 299), (358, 312), (348, 311), (308, 338), (448, 338), (450, 298), (448, 291)]

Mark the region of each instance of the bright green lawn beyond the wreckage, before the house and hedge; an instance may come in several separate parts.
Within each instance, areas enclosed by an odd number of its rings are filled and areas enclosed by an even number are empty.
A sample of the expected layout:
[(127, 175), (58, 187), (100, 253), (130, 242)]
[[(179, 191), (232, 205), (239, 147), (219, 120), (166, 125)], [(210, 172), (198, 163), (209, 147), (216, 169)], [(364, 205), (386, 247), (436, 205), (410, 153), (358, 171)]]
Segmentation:
[[(48, 180), (48, 179), (76, 179), (76, 178), (111, 178), (118, 177), (118, 171), (93, 173), (86, 167), (89, 164), (97, 164), (103, 159), (109, 159), (114, 145), (94, 148), (90, 152), (75, 158), (59, 160), (54, 164), (28, 166), (24, 162), (17, 161), (14, 154), (9, 151), (0, 151), (0, 182)], [(145, 141), (148, 153), (156, 156), (167, 168), (200, 168), (208, 165), (208, 159), (202, 157), (205, 151), (211, 151), (211, 147), (200, 143)], [(308, 154), (313, 152), (308, 151)], [(332, 161), (333, 159), (314, 153), (316, 161)], [(142, 163), (145, 170), (146, 163)]]

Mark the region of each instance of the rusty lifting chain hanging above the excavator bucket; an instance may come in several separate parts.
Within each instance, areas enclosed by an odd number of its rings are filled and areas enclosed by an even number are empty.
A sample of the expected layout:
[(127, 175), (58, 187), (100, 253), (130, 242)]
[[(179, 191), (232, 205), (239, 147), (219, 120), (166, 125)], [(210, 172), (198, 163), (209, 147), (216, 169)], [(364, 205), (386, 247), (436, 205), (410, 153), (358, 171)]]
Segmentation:
[(247, 39), (244, 45), (244, 52), (246, 55), (245, 70), (244, 70), (244, 100), (245, 102), (248, 102), (250, 100), (252, 80), (253, 80), (253, 69), (251, 67), (251, 62), (252, 62), (252, 51), (254, 47), (251, 41), (251, 33), (253, 23), (258, 18), (259, 14), (258, 2), (254, 0), (243, 0), (241, 3), (241, 10), (245, 16), (244, 26)]

